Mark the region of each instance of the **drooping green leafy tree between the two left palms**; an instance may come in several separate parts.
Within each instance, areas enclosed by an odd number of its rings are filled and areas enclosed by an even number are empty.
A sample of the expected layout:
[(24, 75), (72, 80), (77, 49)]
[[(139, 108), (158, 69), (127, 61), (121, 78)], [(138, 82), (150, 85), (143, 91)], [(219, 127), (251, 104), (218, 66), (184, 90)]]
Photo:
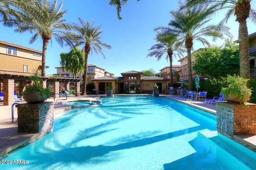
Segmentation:
[(61, 53), (62, 70), (64, 71), (65, 68), (67, 72), (71, 72), (76, 77), (79, 72), (84, 70), (84, 57), (84, 51), (78, 47), (73, 47), (69, 53)]

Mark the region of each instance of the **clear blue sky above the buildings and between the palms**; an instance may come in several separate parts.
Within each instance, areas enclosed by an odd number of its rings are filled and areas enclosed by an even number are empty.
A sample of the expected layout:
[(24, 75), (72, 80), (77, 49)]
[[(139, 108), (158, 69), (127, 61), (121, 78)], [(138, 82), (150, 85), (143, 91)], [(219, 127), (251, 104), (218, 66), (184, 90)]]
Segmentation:
[[(256, 9), (256, 0), (252, 0), (251, 8)], [(61, 2), (60, 0), (58, 1)], [(121, 76), (121, 72), (130, 70), (142, 71), (153, 68), (156, 72), (165, 66), (169, 66), (165, 56), (157, 61), (155, 57), (146, 57), (148, 49), (156, 44), (154, 37), (155, 27), (167, 26), (172, 20), (170, 10), (178, 8), (178, 0), (128, 0), (128, 5), (122, 7), (122, 20), (118, 20), (116, 8), (109, 5), (109, 0), (65, 0), (62, 7), (68, 10), (64, 19), (67, 22), (78, 22), (78, 17), (84, 21), (95, 21), (95, 25), (102, 25), (102, 42), (111, 45), (112, 49), (103, 49), (106, 59), (100, 54), (92, 52), (89, 55), (88, 64), (94, 64), (105, 68), (114, 76)], [(224, 17), (224, 12), (219, 12), (212, 20), (217, 23)], [(248, 33), (256, 32), (256, 25), (248, 20)], [(233, 40), (238, 39), (238, 22), (235, 17), (230, 18), (227, 25), (233, 35)], [(0, 39), (37, 49), (42, 51), (42, 39), (38, 38), (33, 44), (29, 44), (32, 34), (29, 32), (15, 33), (14, 28), (0, 25)], [(211, 38), (206, 38), (209, 41)], [(211, 41), (210, 41), (211, 42)], [(212, 44), (222, 45), (223, 40), (218, 39)], [(203, 48), (204, 45), (194, 42), (194, 50)], [(82, 47), (81, 47), (82, 48)], [(56, 73), (56, 66), (60, 66), (60, 53), (69, 52), (70, 47), (60, 47), (54, 39), (49, 43), (46, 54), (46, 74)], [(186, 53), (184, 54), (186, 56)], [(174, 59), (173, 64), (180, 64)]]

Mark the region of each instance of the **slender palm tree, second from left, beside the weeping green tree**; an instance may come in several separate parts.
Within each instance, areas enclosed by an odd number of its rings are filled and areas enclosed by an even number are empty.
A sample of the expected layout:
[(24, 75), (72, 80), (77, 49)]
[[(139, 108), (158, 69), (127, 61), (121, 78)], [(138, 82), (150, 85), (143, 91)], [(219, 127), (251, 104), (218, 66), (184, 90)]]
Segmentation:
[(84, 78), (83, 78), (83, 88), (82, 88), (82, 94), (86, 95), (86, 82), (87, 82), (87, 63), (88, 63), (88, 55), (90, 54), (91, 49), (95, 53), (101, 53), (102, 56), (105, 58), (105, 55), (102, 52), (102, 47), (106, 47), (107, 49), (111, 49), (110, 45), (107, 45), (105, 43), (102, 43), (100, 41), (100, 35), (103, 33), (101, 31), (102, 27), (101, 25), (98, 27), (94, 26), (94, 20), (92, 21), (92, 24), (90, 24), (88, 21), (84, 22), (82, 18), (78, 18), (80, 23), (74, 22), (74, 30), (77, 33), (70, 33), (67, 35), (67, 37), (71, 37), (75, 43), (76, 46), (83, 45), (85, 58), (84, 58)]

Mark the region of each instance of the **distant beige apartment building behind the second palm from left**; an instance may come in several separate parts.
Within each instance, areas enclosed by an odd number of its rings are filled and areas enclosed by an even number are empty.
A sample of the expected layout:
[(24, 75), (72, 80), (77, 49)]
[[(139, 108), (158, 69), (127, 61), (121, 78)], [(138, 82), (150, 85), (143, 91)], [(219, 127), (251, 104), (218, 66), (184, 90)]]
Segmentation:
[[(57, 69), (56, 74), (61, 74), (62, 78), (74, 78), (71, 72), (67, 72), (66, 69), (62, 70), (62, 67), (55, 67)], [(92, 81), (93, 78), (99, 78), (103, 76), (114, 76), (114, 74), (107, 72), (104, 68), (101, 68), (96, 65), (88, 64), (87, 65), (87, 82)], [(84, 72), (78, 73), (75, 78), (83, 78)]]

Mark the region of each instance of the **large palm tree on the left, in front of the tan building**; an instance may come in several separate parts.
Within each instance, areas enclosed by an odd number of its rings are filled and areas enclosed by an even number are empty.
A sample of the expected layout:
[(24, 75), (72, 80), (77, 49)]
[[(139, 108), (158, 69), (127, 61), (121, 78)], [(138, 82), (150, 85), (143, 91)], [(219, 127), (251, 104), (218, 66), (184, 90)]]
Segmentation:
[(5, 25), (16, 26), (14, 31), (23, 33), (30, 31), (34, 35), (30, 38), (29, 43), (34, 43), (38, 37), (43, 40), (42, 48), (42, 76), (45, 76), (46, 50), (49, 40), (52, 37), (63, 47), (64, 41), (69, 41), (64, 36), (67, 30), (72, 29), (72, 25), (65, 23), (63, 19), (67, 10), (61, 11), (62, 1), (58, 5), (57, 0), (52, 4), (50, 0), (20, 0), (12, 4), (16, 9), (11, 20)]

